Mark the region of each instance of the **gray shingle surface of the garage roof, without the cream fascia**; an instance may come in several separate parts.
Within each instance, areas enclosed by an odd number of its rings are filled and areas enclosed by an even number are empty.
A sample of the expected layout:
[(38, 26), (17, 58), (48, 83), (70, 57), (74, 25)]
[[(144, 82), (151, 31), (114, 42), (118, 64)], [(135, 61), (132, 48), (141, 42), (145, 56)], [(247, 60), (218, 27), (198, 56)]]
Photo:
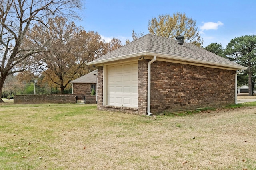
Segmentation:
[(174, 39), (168, 39), (151, 34), (140, 37), (139, 39), (136, 39), (135, 41), (132, 41), (123, 47), (103, 55), (94, 61), (101, 61), (141, 52), (150, 52), (175, 57), (185, 57), (185, 59), (187, 58), (220, 64), (230, 64), (233, 66), (241, 66), (240, 64), (234, 63), (191, 43), (184, 43), (183, 45), (179, 45)]

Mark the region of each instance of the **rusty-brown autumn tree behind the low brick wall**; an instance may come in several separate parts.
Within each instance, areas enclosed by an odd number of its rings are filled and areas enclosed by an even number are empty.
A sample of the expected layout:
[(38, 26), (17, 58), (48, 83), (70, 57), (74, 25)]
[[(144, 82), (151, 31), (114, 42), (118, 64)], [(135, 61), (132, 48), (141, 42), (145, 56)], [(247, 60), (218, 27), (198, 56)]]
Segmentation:
[(43, 82), (56, 84), (64, 93), (70, 81), (94, 69), (85, 63), (104, 54), (104, 41), (98, 33), (86, 32), (64, 17), (51, 20), (48, 27), (45, 33), (44, 25), (38, 24), (28, 33), (28, 42), (41, 44), (47, 40), (50, 45), (49, 52), (32, 56), (32, 63), (44, 72)]

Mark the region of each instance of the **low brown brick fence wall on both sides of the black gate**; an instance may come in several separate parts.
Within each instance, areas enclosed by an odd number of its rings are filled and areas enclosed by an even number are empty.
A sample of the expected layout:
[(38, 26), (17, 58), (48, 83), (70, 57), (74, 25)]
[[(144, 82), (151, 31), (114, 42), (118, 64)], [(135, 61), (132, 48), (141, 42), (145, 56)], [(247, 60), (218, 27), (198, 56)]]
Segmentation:
[[(76, 103), (75, 94), (26, 94), (15, 95), (14, 104)], [(95, 104), (96, 96), (86, 96), (86, 104)]]

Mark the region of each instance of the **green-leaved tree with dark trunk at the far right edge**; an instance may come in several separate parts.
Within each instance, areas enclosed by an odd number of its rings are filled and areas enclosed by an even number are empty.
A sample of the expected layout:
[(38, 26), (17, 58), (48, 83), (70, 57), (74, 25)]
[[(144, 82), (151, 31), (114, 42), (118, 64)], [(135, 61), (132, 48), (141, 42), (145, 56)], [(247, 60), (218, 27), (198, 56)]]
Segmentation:
[(253, 96), (254, 77), (256, 75), (256, 36), (244, 35), (228, 43), (225, 54), (227, 58), (247, 67), (249, 96)]

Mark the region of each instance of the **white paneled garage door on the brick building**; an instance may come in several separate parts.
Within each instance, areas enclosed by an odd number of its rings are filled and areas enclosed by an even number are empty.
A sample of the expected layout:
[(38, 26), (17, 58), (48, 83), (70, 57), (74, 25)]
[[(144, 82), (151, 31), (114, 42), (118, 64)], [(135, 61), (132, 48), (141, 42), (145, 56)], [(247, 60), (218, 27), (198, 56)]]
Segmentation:
[(107, 67), (108, 105), (138, 107), (138, 62)]

